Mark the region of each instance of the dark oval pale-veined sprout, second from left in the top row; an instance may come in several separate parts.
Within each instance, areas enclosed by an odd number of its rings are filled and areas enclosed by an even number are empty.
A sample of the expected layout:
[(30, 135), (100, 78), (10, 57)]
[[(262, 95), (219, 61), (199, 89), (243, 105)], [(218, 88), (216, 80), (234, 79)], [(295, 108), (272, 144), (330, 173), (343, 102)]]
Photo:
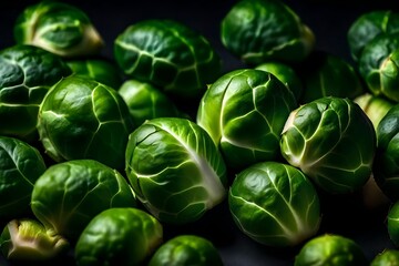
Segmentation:
[(173, 20), (143, 20), (114, 41), (114, 57), (125, 74), (153, 83), (165, 93), (196, 99), (222, 71), (208, 40)]

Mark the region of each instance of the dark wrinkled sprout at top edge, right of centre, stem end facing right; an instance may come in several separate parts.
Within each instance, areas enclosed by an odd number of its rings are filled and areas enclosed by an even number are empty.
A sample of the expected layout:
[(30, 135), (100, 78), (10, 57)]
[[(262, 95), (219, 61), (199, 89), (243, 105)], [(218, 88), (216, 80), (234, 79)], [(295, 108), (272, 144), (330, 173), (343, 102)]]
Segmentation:
[(278, 0), (242, 0), (222, 20), (224, 47), (247, 64), (303, 61), (315, 47), (313, 31)]

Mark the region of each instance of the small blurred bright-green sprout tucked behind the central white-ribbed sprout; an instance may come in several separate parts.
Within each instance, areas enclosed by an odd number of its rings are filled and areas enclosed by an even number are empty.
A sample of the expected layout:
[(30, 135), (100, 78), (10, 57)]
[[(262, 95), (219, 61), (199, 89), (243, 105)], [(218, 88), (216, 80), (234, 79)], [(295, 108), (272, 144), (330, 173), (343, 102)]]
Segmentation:
[(151, 83), (130, 79), (121, 85), (119, 93), (126, 102), (136, 125), (145, 120), (181, 116), (174, 102)]

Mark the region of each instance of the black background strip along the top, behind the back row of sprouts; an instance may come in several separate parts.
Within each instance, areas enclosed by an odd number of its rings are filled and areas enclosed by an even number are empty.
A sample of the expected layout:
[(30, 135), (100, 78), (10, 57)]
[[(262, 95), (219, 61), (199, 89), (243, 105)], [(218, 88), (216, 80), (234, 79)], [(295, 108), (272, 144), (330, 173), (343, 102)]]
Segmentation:
[[(282, 0), (283, 1), (283, 0)], [(34, 0), (0, 1), (0, 49), (13, 44), (12, 25), (23, 7)], [(142, 19), (176, 19), (203, 33), (225, 60), (225, 69), (239, 62), (224, 50), (219, 40), (219, 22), (236, 0), (65, 0), (83, 9), (105, 40), (104, 53), (113, 57), (113, 41), (127, 25)], [(350, 60), (346, 33), (361, 13), (376, 9), (391, 9), (396, 0), (284, 0), (317, 38), (317, 48)]]

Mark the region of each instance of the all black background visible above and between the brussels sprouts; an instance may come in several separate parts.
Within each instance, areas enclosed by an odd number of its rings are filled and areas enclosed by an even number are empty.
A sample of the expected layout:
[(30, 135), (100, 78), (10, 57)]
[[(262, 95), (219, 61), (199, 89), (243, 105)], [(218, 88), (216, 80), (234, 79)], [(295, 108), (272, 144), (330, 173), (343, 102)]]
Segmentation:
[[(3, 1), (0, 3), (0, 49), (13, 44), (12, 27), (22, 9), (37, 1)], [(175, 19), (204, 34), (224, 62), (224, 70), (243, 64), (221, 44), (219, 23), (236, 2), (233, 0), (198, 1), (65, 1), (88, 13), (105, 41), (105, 57), (113, 58), (113, 41), (127, 25), (142, 19)], [(303, 21), (314, 31), (317, 49), (337, 54), (351, 62), (346, 34), (350, 23), (364, 12), (391, 9), (396, 0), (332, 1), (286, 0)], [(397, 11), (397, 10), (396, 10)], [(386, 227), (388, 204), (366, 206), (364, 192), (345, 196), (320, 195), (324, 217), (319, 233), (337, 233), (355, 239), (371, 259), (385, 248), (392, 247)], [(265, 225), (267, 226), (267, 225)], [(226, 266), (293, 265), (298, 247), (270, 248), (244, 236), (233, 224), (226, 204), (212, 209), (192, 225), (165, 227), (165, 236), (195, 233), (212, 239), (221, 250)], [(0, 258), (0, 266), (8, 265)], [(65, 262), (65, 264), (69, 264)]]

